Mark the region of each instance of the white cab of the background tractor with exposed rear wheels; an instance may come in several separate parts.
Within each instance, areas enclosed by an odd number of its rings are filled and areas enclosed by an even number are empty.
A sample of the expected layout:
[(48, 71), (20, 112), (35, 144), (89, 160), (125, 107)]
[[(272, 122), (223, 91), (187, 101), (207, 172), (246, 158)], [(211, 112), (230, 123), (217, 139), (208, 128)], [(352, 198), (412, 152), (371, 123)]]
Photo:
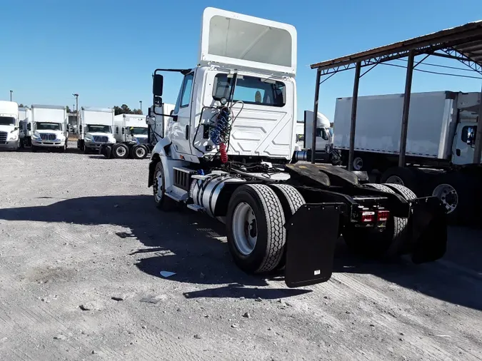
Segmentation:
[(147, 144), (146, 116), (140, 114), (119, 114), (114, 116), (114, 138), (121, 143), (124, 141), (136, 141), (139, 144)]

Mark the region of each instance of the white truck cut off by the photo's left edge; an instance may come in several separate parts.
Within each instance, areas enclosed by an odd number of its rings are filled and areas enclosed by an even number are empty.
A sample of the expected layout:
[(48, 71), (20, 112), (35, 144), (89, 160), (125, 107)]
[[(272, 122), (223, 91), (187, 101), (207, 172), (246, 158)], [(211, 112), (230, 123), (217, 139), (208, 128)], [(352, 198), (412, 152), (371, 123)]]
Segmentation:
[(19, 148), (19, 104), (0, 101), (0, 149), (16, 151)]

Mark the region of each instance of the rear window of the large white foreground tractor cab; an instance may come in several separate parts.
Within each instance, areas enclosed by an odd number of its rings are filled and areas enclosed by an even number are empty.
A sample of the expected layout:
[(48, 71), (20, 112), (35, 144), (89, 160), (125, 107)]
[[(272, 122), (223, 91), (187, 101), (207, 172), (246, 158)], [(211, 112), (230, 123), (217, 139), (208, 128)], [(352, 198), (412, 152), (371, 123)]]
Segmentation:
[[(229, 98), (233, 78), (227, 74), (217, 74), (214, 80), (213, 98)], [(243, 101), (260, 106), (284, 106), (286, 87), (281, 81), (242, 76), (236, 81), (234, 101)]]

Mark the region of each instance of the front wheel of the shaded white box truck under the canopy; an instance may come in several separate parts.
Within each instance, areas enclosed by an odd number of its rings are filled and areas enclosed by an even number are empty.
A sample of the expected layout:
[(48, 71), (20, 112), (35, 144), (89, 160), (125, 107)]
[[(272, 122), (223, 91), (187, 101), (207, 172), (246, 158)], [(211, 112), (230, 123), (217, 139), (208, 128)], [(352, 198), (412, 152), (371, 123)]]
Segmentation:
[(467, 223), (478, 213), (478, 183), (471, 176), (446, 173), (436, 177), (430, 195), (441, 200), (449, 223)]

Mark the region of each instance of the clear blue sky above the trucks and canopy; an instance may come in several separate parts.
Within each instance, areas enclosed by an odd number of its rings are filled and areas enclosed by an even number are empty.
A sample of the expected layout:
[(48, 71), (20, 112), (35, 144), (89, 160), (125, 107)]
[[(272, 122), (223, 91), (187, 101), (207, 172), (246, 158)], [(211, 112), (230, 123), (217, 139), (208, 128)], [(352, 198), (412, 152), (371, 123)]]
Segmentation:
[[(71, 107), (71, 93), (77, 92), (79, 106), (126, 103), (138, 108), (141, 100), (145, 112), (155, 68), (196, 64), (206, 6), (296, 26), (300, 119), (303, 110), (313, 108), (316, 74), (309, 64), (482, 19), (480, 0), (4, 0), (0, 99), (8, 100), (11, 89), (19, 103)], [(456, 61), (443, 63), (463, 68)], [(431, 66), (422, 69), (448, 72)], [(363, 76), (360, 95), (401, 93), (404, 77), (403, 68), (378, 66)], [(481, 83), (416, 72), (413, 91), (480, 91)], [(174, 103), (179, 85), (178, 76), (165, 78), (164, 101)], [(352, 87), (353, 71), (323, 83), (320, 111), (332, 119), (336, 97), (351, 96)]]

